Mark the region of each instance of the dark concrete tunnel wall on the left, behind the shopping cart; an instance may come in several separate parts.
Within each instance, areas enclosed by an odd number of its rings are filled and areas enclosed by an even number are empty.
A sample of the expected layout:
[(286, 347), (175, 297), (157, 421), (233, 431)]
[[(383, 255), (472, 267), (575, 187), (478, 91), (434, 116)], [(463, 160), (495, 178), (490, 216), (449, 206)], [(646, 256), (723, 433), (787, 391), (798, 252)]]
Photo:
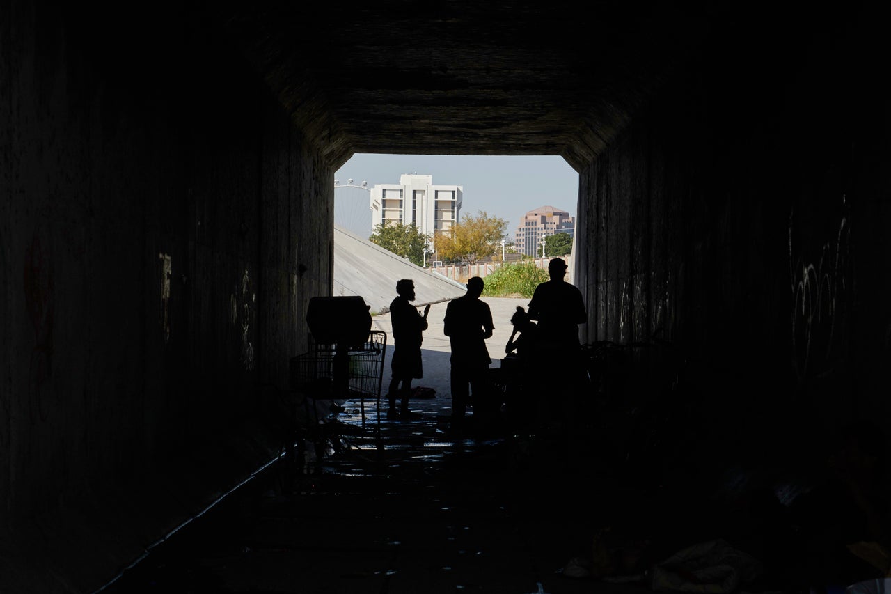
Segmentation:
[(216, 39), (13, 4), (0, 590), (84, 592), (281, 447), (255, 384), (331, 292), (333, 169)]

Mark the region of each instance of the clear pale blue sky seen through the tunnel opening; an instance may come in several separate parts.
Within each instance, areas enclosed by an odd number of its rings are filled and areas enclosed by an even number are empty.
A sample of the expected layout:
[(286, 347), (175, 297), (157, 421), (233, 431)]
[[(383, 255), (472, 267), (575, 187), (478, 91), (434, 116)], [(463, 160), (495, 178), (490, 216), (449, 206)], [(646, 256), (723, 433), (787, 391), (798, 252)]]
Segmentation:
[[(462, 186), (461, 216), (476, 216), (482, 210), (490, 217), (504, 219), (511, 239), (528, 210), (553, 206), (576, 216), (578, 174), (559, 156), (358, 153), (338, 169), (334, 178), (341, 186), (352, 178), (356, 186), (366, 181), (372, 187), (398, 184), (399, 176), (405, 173), (433, 176), (435, 186)], [(340, 190), (334, 193), (335, 210), (339, 200), (356, 195), (349, 192), (368, 199), (362, 190)], [(356, 195), (355, 199), (362, 198)]]

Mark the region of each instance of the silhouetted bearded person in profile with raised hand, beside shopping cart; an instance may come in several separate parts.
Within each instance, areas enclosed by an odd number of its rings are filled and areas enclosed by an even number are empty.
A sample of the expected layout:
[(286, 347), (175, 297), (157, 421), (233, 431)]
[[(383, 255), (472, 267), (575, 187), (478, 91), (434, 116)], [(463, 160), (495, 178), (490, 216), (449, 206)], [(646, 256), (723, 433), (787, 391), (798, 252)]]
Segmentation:
[[(396, 299), (390, 302), (390, 322), (393, 326), (393, 359), (390, 362), (392, 375), (390, 378), (388, 418), (420, 417), (408, 409), (408, 401), (412, 394), (412, 380), (424, 376), (421, 362), (421, 342), (423, 331), (427, 329), (429, 304), (424, 314), (418, 313), (409, 301), (414, 301), (414, 282), (403, 278), (396, 283)], [(401, 397), (401, 406), (396, 409), (396, 399)]]

